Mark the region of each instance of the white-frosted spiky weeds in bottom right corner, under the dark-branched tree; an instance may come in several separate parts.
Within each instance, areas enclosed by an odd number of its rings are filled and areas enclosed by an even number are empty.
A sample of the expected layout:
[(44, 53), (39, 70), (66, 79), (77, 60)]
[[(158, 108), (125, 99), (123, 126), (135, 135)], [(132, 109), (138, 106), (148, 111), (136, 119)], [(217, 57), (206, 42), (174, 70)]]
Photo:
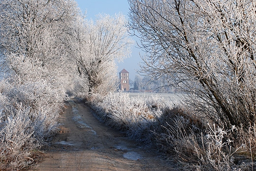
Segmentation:
[(211, 168), (215, 171), (241, 171), (241, 168), (248, 169), (245, 164), (242, 166), (235, 164), (234, 154), (245, 149), (244, 144), (237, 148), (232, 147), (234, 140), (231, 139), (231, 133), (235, 130), (235, 126), (230, 130), (224, 130), (215, 124), (208, 124), (206, 135), (201, 136), (204, 145), (194, 149), (199, 159), (198, 170), (205, 171)]

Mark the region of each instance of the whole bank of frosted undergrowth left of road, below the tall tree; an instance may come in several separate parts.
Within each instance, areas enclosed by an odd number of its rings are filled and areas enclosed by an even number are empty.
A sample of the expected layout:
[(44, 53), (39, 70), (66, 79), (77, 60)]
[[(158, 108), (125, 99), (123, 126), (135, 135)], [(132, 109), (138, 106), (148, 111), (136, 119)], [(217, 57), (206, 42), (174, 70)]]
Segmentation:
[(0, 170), (25, 170), (58, 129), (64, 93), (46, 81), (0, 81)]

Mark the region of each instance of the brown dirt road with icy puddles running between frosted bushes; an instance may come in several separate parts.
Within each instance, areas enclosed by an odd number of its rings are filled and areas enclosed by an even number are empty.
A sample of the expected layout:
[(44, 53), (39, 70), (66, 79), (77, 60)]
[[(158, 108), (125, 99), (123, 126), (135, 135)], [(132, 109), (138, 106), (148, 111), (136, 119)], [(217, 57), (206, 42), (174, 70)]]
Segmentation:
[(34, 170), (175, 171), (160, 154), (100, 123), (82, 102), (74, 101), (65, 104), (61, 130)]

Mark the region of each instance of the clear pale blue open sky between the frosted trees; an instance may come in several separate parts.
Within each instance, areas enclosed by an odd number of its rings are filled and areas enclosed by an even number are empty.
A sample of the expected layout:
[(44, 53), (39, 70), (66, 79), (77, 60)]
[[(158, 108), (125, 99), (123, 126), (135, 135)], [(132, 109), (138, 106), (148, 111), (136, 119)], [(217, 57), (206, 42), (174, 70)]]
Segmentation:
[[(116, 13), (122, 13), (128, 15), (129, 5), (127, 0), (76, 0), (79, 8), (85, 12), (87, 11), (87, 18), (95, 20), (95, 16), (99, 13), (105, 13), (109, 15), (115, 15)], [(127, 17), (128, 18), (128, 17)], [(135, 37), (131, 37), (135, 41)], [(132, 49), (131, 57), (124, 60), (124, 62), (118, 63), (118, 72), (122, 69), (126, 69), (130, 74), (130, 79), (134, 80), (136, 70), (139, 69), (138, 63), (142, 62), (139, 57), (139, 52), (142, 51), (135, 47)]]

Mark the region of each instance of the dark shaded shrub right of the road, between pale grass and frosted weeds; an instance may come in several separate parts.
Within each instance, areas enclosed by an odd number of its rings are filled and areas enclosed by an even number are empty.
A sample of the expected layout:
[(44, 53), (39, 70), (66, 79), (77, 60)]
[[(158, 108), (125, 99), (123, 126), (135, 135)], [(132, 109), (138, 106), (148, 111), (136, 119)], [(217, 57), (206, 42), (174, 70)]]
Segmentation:
[(162, 151), (177, 154), (184, 161), (195, 161), (194, 147), (201, 145), (204, 123), (181, 106), (165, 108), (159, 122), (161, 129), (155, 134)]

